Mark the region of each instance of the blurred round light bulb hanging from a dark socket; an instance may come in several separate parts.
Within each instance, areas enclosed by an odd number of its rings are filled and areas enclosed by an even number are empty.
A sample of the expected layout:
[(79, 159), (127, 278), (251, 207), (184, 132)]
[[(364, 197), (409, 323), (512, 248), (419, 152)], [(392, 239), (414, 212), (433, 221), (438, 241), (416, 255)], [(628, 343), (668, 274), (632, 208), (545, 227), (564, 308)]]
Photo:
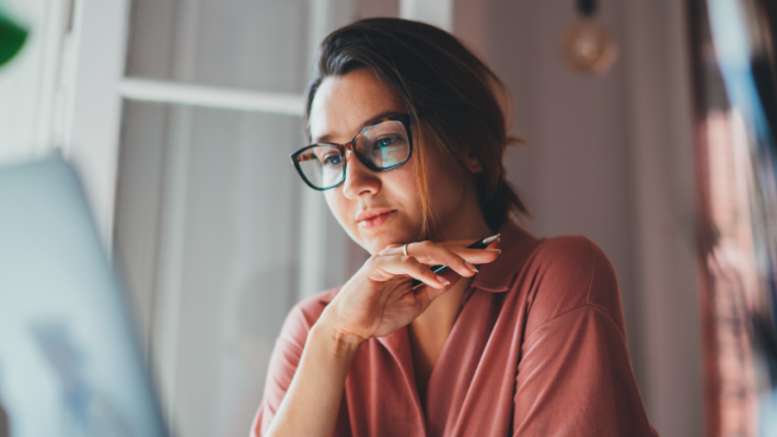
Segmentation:
[(594, 19), (596, 0), (578, 0), (577, 11), (578, 20), (561, 37), (561, 56), (569, 68), (579, 73), (606, 73), (617, 59), (617, 44)]

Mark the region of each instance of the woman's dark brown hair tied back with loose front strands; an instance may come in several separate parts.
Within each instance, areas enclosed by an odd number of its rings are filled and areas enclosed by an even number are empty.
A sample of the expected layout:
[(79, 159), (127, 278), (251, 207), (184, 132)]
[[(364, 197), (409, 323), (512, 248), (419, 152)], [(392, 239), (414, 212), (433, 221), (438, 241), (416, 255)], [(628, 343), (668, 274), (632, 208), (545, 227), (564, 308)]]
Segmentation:
[(497, 231), (510, 212), (529, 215), (505, 180), (502, 157), (511, 137), (500, 98), (511, 108), (505, 84), (453, 35), (401, 19), (368, 19), (341, 27), (318, 48), (308, 87), (308, 117), (321, 82), (366, 68), (397, 92), (410, 116), (416, 177), (424, 205), (421, 237), (433, 229), (426, 180), (427, 147), (451, 156), (465, 172), (469, 153), (483, 170), (472, 175), (486, 224)]

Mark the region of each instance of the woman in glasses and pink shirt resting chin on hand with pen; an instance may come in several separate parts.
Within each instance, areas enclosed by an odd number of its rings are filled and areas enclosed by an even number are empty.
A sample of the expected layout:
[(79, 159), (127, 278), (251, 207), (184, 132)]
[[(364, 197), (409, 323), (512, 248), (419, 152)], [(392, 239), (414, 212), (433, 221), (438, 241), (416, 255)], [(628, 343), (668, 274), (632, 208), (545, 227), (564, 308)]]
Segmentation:
[(288, 316), (254, 435), (656, 435), (605, 255), (509, 217), (526, 210), (501, 164), (506, 95), (426, 24), (364, 20), (323, 42), (313, 145), (292, 161), (371, 257)]

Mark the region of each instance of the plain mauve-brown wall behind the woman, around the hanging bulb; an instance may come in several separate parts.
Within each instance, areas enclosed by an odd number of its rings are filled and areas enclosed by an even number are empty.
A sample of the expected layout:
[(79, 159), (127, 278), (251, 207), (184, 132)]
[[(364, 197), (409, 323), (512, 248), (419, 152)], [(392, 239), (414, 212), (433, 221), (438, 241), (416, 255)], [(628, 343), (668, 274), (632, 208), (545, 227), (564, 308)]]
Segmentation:
[(531, 145), (506, 160), (540, 236), (581, 234), (618, 274), (629, 351), (662, 436), (701, 435), (683, 3), (600, 2), (621, 47), (603, 76), (569, 71), (559, 39), (573, 1), (459, 0), (454, 33), (515, 102)]

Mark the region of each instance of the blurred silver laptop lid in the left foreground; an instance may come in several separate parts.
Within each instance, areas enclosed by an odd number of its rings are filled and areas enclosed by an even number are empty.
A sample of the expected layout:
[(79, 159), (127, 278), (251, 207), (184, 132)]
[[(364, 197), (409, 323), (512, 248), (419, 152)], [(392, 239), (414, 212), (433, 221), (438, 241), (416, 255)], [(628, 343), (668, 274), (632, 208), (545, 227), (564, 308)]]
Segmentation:
[(0, 168), (0, 437), (162, 437), (158, 406), (76, 174)]

